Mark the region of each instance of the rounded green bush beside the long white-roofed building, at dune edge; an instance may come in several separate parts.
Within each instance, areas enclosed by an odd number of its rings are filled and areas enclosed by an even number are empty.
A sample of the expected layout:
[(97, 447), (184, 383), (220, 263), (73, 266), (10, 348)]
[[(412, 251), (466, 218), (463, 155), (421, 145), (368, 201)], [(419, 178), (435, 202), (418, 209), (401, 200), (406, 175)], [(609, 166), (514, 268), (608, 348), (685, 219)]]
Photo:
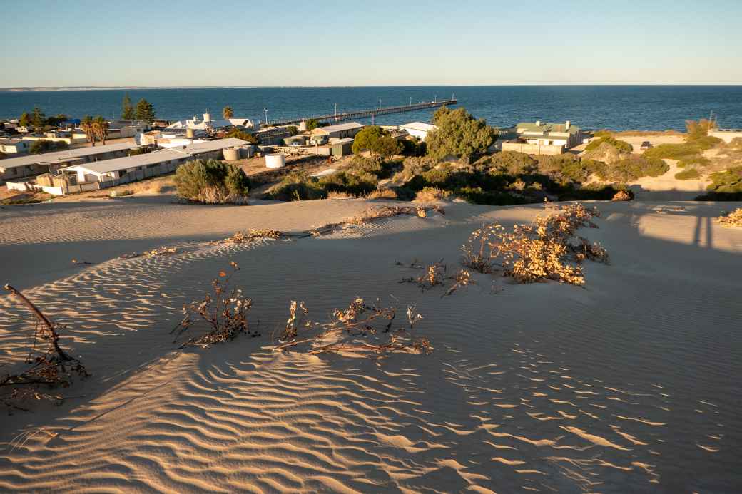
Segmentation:
[(245, 202), (249, 185), (242, 168), (216, 159), (188, 162), (175, 171), (178, 195), (206, 204)]

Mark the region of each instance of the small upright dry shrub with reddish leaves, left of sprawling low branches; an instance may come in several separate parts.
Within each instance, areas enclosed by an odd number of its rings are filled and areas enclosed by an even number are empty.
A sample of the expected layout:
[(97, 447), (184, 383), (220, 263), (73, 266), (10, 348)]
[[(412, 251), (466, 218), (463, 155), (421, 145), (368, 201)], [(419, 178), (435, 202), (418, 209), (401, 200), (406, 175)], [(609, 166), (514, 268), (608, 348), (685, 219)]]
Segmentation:
[(191, 337), (183, 346), (224, 343), (242, 334), (260, 336), (257, 329), (250, 329), (247, 320), (247, 314), (252, 309), (252, 299), (246, 297), (241, 289), (232, 289), (229, 286), (229, 281), (240, 267), (234, 262), (229, 264), (232, 266), (232, 273), (220, 271), (219, 278), (211, 282), (211, 293), (205, 294), (200, 302), (194, 300), (183, 305), (183, 320), (171, 331), (171, 334), (175, 334), (175, 340), (188, 331), (196, 320), (200, 319), (210, 328), (206, 335)]

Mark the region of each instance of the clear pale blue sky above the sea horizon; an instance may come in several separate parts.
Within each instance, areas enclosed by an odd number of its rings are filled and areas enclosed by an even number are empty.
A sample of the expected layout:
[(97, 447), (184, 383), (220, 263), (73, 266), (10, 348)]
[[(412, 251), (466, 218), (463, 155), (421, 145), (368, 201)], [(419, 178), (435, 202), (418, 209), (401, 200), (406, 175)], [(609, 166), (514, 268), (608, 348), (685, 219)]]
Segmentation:
[(742, 0), (4, 0), (0, 13), (0, 87), (742, 84)]

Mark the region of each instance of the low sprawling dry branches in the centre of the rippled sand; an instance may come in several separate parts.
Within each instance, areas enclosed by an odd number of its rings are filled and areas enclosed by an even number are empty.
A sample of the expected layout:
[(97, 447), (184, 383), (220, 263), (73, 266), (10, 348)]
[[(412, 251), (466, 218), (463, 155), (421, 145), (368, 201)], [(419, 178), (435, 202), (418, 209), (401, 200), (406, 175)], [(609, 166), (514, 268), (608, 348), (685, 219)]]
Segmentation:
[(274, 350), (375, 358), (393, 352), (427, 355), (433, 351), (427, 338), (413, 335), (414, 326), (422, 319), (415, 306), (407, 307), (407, 324), (396, 329), (394, 307), (381, 306), (378, 300), (369, 305), (361, 297), (345, 309), (335, 309), (329, 322), (316, 323), (308, 317), (304, 303), (292, 300), (286, 327), (274, 338), (278, 342)]

